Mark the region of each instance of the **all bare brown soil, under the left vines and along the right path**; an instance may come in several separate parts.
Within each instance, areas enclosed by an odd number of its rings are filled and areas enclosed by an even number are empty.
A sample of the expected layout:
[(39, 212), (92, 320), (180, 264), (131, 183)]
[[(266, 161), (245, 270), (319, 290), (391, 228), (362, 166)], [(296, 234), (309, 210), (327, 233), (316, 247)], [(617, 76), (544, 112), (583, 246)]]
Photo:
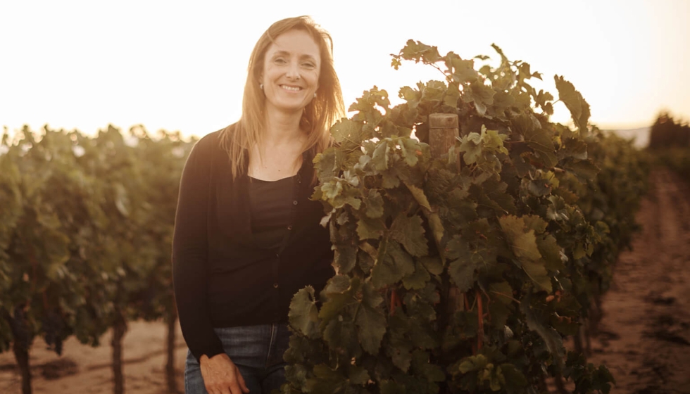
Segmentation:
[[(654, 170), (637, 221), (643, 230), (621, 255), (603, 298), (603, 318), (591, 339), (589, 361), (615, 376), (613, 394), (690, 394), (690, 187), (667, 170)], [(177, 331), (175, 365), (183, 389), (187, 347)], [(110, 334), (99, 348), (70, 338), (61, 357), (35, 341), (34, 393), (113, 392)], [(125, 392), (163, 394), (165, 325), (134, 322), (124, 338)], [(0, 393), (19, 394), (11, 352), (0, 354)]]

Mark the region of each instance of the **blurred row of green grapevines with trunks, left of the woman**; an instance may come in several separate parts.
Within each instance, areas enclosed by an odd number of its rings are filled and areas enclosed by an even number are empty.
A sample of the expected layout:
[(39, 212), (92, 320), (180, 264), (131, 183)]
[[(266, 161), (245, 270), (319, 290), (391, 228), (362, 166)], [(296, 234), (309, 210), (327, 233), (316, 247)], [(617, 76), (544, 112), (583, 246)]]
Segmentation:
[(127, 322), (168, 324), (170, 392), (177, 314), (170, 242), (180, 174), (194, 141), (143, 127), (4, 134), (0, 152), (0, 352), (15, 354), (31, 393), (28, 350), (42, 336), (61, 354), (75, 336), (97, 346), (113, 330), (123, 393)]

